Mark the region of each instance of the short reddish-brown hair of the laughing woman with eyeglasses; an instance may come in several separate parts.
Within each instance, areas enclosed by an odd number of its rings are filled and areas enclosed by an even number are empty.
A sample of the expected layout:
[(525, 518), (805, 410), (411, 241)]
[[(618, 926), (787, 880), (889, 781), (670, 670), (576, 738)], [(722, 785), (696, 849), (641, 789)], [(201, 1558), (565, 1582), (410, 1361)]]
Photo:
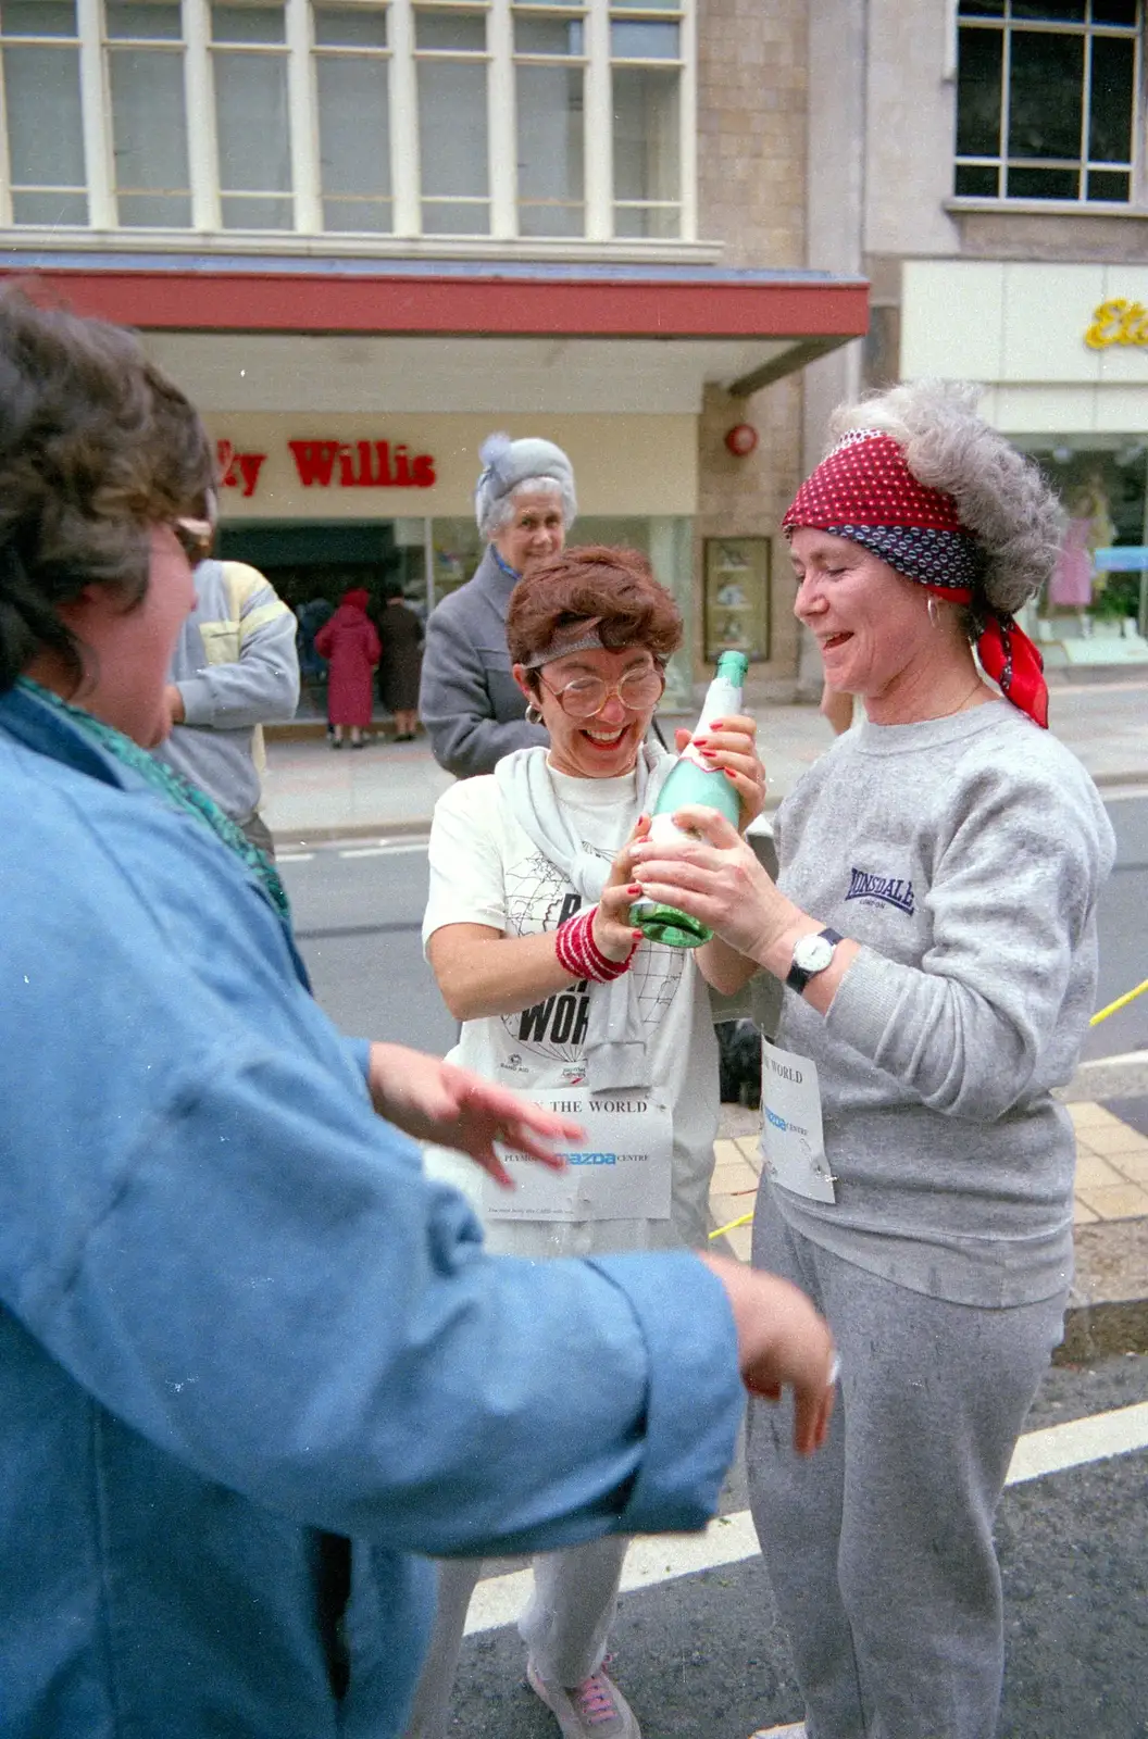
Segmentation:
[(564, 628), (598, 617), (609, 650), (645, 647), (659, 664), (682, 645), (682, 612), (640, 550), (584, 544), (531, 569), (510, 595), (506, 643), (515, 664), (544, 652)]

